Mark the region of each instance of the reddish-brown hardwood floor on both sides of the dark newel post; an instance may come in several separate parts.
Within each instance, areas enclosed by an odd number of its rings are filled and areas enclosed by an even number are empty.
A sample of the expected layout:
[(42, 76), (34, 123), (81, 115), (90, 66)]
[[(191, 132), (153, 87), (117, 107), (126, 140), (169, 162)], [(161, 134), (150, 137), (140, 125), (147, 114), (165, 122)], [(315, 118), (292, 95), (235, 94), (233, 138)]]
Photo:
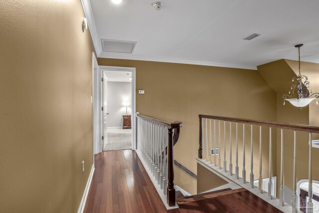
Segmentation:
[[(218, 191), (178, 199), (180, 209), (168, 213), (280, 213), (245, 189)], [(151, 179), (135, 151), (95, 156), (95, 173), (85, 213), (166, 213)]]

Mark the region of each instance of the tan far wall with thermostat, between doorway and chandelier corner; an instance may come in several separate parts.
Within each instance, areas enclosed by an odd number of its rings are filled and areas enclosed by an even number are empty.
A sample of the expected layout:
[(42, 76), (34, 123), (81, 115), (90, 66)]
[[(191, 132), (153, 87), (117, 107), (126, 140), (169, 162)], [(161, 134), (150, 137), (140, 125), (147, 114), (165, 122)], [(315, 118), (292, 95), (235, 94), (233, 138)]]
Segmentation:
[[(183, 122), (174, 159), (195, 174), (198, 114), (276, 121), (276, 93), (254, 70), (106, 58), (98, 63), (136, 67), (136, 89), (145, 90), (137, 92), (137, 112)], [(179, 179), (175, 184), (182, 188), (191, 184)]]

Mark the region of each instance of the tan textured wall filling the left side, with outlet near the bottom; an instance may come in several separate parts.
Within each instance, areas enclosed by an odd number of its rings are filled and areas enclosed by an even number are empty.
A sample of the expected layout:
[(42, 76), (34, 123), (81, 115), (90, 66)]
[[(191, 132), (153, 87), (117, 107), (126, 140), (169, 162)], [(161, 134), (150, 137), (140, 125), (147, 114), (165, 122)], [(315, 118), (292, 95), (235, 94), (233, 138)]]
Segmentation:
[(93, 164), (82, 16), (80, 0), (0, 1), (1, 213), (79, 208)]

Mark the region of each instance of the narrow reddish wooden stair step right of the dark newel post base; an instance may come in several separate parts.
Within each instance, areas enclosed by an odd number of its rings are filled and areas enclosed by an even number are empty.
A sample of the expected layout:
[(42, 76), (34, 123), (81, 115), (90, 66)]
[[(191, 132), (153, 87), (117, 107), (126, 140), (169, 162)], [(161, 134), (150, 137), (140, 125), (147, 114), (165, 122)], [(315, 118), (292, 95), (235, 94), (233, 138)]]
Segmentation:
[(214, 191), (214, 192), (208, 192), (208, 193), (203, 193), (203, 194), (198, 194), (198, 195), (193, 195), (193, 196), (187, 196), (183, 199), (177, 199), (176, 203), (178, 205), (187, 204), (187, 203), (191, 203), (191, 202), (201, 201), (201, 200), (205, 200), (205, 199), (209, 199), (209, 198), (216, 198), (219, 196), (229, 195), (229, 194), (243, 192), (243, 191), (247, 191), (247, 190), (244, 188), (240, 188), (240, 189), (236, 189), (236, 190), (232, 190), (232, 189), (228, 188), (228, 189), (218, 190), (218, 191)]

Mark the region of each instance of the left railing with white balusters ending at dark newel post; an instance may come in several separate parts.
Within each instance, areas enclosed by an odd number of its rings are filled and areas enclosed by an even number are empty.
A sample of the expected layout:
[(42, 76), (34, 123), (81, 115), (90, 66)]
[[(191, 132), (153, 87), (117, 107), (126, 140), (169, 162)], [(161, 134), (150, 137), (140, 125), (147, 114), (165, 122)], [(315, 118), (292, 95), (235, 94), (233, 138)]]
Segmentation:
[(138, 152), (166, 195), (175, 206), (173, 146), (179, 138), (181, 122), (167, 122), (136, 113)]

